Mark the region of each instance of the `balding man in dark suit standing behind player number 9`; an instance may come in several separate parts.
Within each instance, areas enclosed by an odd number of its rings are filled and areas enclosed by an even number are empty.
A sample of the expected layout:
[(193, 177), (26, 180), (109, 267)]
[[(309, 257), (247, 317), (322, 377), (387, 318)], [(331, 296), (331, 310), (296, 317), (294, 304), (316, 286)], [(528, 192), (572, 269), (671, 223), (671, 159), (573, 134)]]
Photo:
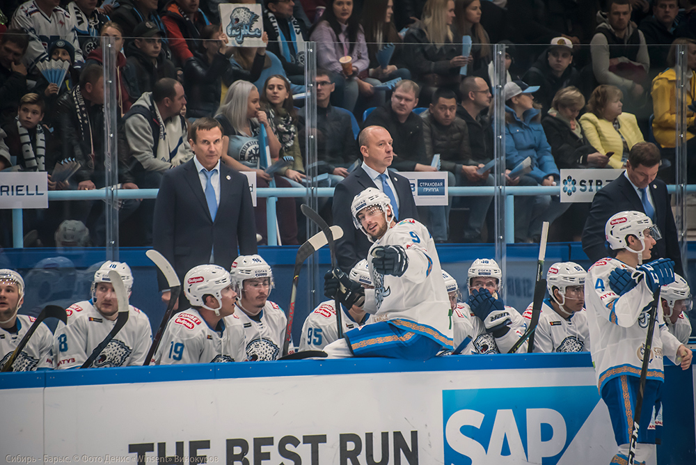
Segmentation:
[(401, 175), (388, 171), (394, 158), (392, 137), (381, 126), (368, 126), (358, 137), (363, 165), (355, 169), (335, 188), (333, 194), (333, 222), (343, 230), (343, 237), (336, 242), (336, 258), (340, 269), (348, 273), (357, 262), (367, 258), (372, 245), (353, 223), (350, 205), (353, 198), (368, 187), (377, 187), (396, 205), (398, 220), (418, 219), (416, 201), (411, 184)]

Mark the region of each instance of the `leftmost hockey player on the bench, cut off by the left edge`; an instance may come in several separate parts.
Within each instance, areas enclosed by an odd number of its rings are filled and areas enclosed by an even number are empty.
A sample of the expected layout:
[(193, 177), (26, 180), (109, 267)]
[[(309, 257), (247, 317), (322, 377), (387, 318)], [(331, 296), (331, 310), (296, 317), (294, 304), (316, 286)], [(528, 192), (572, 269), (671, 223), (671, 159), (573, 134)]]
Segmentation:
[[(17, 315), (24, 302), (24, 280), (17, 271), (0, 269), (0, 368), (15, 352), (17, 344), (35, 318)], [(12, 364), (13, 371), (47, 370), (53, 368), (53, 335), (40, 324)]]

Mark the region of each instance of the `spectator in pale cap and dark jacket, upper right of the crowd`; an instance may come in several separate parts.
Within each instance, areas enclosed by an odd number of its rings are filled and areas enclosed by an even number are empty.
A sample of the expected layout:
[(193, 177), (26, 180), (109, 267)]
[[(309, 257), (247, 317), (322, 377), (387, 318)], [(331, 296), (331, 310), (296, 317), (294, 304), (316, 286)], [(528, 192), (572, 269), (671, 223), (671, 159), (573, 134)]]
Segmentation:
[(564, 37), (553, 38), (546, 53), (539, 56), (522, 80), (539, 87), (534, 100), (541, 104), (543, 117), (551, 109), (553, 96), (558, 90), (576, 85), (578, 70), (573, 66), (573, 43)]

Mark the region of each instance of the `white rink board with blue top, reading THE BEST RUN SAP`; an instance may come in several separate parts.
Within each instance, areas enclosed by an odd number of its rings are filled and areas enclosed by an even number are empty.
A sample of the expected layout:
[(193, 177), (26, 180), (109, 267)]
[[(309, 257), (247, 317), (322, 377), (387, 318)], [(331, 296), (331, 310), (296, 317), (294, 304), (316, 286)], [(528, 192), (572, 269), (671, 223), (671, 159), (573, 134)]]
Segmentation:
[[(696, 463), (694, 385), (667, 367), (658, 464)], [(589, 354), (9, 373), (0, 390), (5, 463), (608, 464), (616, 447)]]

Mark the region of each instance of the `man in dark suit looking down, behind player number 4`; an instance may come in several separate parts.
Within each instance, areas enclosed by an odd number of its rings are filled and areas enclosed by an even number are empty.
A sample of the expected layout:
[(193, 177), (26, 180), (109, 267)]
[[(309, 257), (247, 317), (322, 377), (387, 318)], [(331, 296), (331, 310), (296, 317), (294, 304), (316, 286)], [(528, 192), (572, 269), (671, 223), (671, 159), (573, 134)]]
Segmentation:
[(615, 213), (625, 210), (644, 212), (660, 228), (662, 239), (657, 241), (651, 256), (671, 258), (674, 271), (683, 274), (681, 253), (677, 240), (667, 185), (656, 179), (660, 166), (660, 150), (654, 143), (633, 145), (626, 161), (626, 172), (603, 187), (594, 196), (590, 216), (583, 230), (583, 250), (590, 262), (606, 257), (604, 226)]

